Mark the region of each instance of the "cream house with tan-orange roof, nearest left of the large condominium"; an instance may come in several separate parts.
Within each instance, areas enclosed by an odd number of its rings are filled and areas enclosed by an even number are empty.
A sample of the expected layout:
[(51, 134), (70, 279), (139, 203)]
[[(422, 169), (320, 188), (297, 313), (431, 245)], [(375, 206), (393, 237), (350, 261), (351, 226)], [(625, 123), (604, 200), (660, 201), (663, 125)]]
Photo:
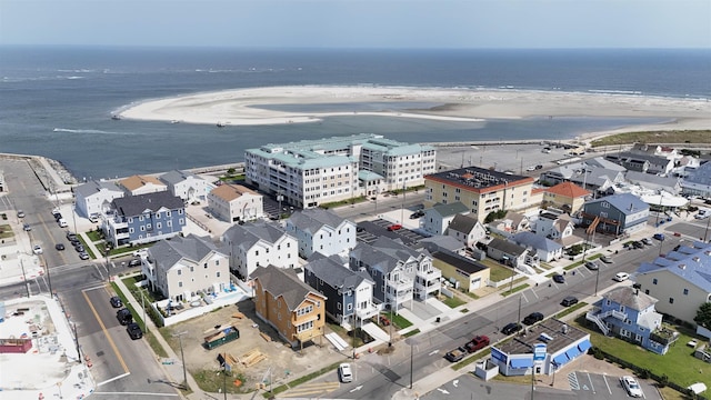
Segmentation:
[(221, 184), (208, 194), (208, 207), (228, 222), (252, 221), (264, 214), (263, 197), (241, 184)]

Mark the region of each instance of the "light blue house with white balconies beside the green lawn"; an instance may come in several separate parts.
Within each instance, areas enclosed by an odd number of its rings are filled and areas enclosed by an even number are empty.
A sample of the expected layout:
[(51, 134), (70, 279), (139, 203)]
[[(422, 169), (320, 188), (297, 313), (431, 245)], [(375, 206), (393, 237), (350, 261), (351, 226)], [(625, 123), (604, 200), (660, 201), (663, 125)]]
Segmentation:
[(642, 348), (664, 354), (675, 332), (662, 329), (662, 314), (654, 310), (657, 299), (639, 289), (620, 287), (602, 297), (600, 307), (585, 314), (602, 333), (614, 334)]

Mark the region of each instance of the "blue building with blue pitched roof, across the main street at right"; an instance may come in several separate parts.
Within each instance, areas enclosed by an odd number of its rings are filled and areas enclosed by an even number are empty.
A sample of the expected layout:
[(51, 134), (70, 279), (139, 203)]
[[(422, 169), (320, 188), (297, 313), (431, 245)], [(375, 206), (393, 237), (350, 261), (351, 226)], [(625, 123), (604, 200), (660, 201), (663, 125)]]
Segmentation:
[(619, 236), (644, 228), (649, 206), (631, 193), (612, 194), (585, 202), (581, 217), (582, 224), (590, 231)]

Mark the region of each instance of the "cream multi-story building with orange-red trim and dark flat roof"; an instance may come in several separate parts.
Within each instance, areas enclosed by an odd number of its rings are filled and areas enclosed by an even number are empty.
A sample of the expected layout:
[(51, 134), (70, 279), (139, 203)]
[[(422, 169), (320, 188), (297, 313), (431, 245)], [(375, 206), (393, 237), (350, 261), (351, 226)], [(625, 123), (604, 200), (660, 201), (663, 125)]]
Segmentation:
[(424, 206), (461, 202), (470, 216), (483, 222), (499, 210), (524, 210), (533, 207), (533, 178), (467, 167), (424, 177)]

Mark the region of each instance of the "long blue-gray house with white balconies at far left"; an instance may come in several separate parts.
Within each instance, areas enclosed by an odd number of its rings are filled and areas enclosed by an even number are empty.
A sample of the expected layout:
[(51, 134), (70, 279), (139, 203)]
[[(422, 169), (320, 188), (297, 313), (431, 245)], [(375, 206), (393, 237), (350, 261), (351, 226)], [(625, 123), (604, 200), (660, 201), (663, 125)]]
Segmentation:
[(113, 199), (111, 207), (113, 217), (104, 220), (103, 231), (114, 247), (169, 239), (186, 226), (182, 199), (168, 191)]

